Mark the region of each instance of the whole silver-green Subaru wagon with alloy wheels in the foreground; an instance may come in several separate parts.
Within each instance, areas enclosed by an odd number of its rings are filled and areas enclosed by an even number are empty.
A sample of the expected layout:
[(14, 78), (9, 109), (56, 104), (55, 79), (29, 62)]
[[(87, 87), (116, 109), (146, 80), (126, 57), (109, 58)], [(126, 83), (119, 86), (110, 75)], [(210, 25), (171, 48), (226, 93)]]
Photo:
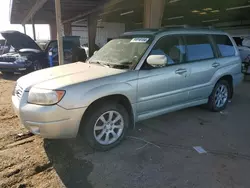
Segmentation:
[(53, 139), (79, 133), (104, 151), (135, 122), (202, 104), (225, 109), (242, 78), (237, 46), (224, 32), (137, 30), (110, 41), (87, 63), (21, 77), (12, 102), (32, 133)]

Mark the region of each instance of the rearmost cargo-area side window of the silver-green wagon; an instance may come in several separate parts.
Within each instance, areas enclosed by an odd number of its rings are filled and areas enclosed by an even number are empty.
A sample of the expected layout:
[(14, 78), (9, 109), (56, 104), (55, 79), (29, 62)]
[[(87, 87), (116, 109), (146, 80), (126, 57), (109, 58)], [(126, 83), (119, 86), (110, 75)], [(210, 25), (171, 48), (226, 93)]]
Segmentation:
[(222, 57), (229, 57), (235, 55), (234, 46), (228, 36), (215, 35), (214, 39)]

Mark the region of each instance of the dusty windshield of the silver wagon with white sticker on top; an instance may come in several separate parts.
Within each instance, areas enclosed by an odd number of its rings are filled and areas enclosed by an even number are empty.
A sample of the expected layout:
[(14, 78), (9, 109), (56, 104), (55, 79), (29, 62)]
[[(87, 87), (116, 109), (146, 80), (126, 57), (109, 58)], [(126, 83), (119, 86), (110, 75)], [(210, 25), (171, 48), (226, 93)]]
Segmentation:
[(144, 55), (152, 42), (152, 36), (130, 36), (113, 39), (97, 51), (89, 63), (98, 63), (118, 69), (131, 69)]

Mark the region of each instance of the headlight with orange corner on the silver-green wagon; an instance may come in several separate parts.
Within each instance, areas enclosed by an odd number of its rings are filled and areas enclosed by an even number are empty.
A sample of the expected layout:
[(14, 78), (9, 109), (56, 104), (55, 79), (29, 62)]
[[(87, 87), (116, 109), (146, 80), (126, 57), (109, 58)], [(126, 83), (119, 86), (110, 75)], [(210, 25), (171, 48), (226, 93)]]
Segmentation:
[(31, 88), (29, 91), (28, 102), (38, 105), (53, 105), (62, 100), (66, 91), (63, 90), (47, 90), (39, 88)]

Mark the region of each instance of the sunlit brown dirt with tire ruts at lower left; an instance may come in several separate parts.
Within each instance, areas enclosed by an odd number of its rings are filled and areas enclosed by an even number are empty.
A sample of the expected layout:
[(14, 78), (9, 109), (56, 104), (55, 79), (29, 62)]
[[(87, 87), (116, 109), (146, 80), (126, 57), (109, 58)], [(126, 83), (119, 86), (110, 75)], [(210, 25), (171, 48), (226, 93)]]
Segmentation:
[(0, 77), (0, 187), (59, 187), (43, 139), (28, 134), (12, 110), (16, 78)]

